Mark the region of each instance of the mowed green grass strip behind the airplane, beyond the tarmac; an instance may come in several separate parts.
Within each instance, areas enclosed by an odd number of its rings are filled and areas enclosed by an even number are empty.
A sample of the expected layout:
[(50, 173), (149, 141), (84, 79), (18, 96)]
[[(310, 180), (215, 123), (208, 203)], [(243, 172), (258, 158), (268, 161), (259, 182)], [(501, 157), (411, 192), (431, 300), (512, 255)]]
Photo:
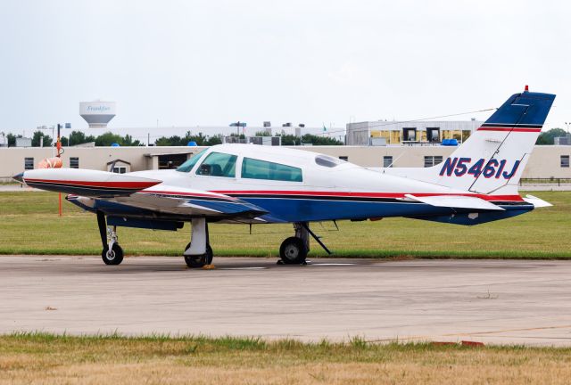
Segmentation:
[[(377, 222), (312, 224), (336, 257), (367, 258), (571, 258), (571, 192), (534, 192), (552, 208), (484, 225), (445, 225), (407, 218)], [(93, 254), (101, 252), (95, 216), (63, 203), (57, 193), (0, 193), (0, 253)], [(215, 256), (277, 257), (292, 225), (210, 226)], [(119, 228), (127, 255), (180, 256), (189, 226), (178, 232)], [(326, 257), (312, 242), (310, 257)]]

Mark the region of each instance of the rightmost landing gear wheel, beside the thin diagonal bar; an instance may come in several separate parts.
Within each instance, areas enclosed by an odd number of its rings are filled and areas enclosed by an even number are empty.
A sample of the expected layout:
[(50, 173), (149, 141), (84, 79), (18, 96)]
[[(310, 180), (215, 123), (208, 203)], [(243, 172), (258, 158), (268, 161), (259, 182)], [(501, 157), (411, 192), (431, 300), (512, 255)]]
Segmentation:
[(319, 236), (310, 230), (309, 223), (294, 223), (294, 231), (295, 236), (285, 239), (279, 247), (278, 265), (306, 265), (305, 259), (310, 251), (310, 236), (319, 243), (323, 250), (327, 251), (327, 254), (331, 254)]

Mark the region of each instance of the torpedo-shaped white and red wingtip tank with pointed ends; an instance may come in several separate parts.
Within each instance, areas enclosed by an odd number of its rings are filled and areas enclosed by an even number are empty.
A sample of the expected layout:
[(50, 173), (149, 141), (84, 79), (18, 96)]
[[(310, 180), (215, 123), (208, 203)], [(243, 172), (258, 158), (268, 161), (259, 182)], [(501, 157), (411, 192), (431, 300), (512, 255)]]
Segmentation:
[(41, 190), (87, 197), (129, 195), (161, 183), (146, 177), (81, 168), (38, 168), (24, 171), (14, 179)]

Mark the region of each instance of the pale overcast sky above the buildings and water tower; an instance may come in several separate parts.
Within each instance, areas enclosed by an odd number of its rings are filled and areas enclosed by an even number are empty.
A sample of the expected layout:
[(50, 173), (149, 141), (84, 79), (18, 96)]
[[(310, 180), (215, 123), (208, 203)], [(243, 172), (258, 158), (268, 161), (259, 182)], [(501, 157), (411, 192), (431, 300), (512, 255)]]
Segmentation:
[[(418, 119), (529, 84), (571, 121), (565, 1), (0, 2), (0, 131), (117, 102), (110, 127)], [(485, 119), (487, 114), (468, 114)]]

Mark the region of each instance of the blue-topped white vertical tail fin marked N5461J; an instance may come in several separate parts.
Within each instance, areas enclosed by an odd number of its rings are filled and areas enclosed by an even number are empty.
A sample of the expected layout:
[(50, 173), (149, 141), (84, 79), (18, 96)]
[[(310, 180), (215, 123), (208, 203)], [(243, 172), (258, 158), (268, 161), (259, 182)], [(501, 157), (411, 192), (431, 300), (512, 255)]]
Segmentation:
[(510, 96), (443, 163), (432, 168), (386, 171), (473, 193), (517, 193), (554, 99), (554, 94), (531, 93), (526, 88)]

